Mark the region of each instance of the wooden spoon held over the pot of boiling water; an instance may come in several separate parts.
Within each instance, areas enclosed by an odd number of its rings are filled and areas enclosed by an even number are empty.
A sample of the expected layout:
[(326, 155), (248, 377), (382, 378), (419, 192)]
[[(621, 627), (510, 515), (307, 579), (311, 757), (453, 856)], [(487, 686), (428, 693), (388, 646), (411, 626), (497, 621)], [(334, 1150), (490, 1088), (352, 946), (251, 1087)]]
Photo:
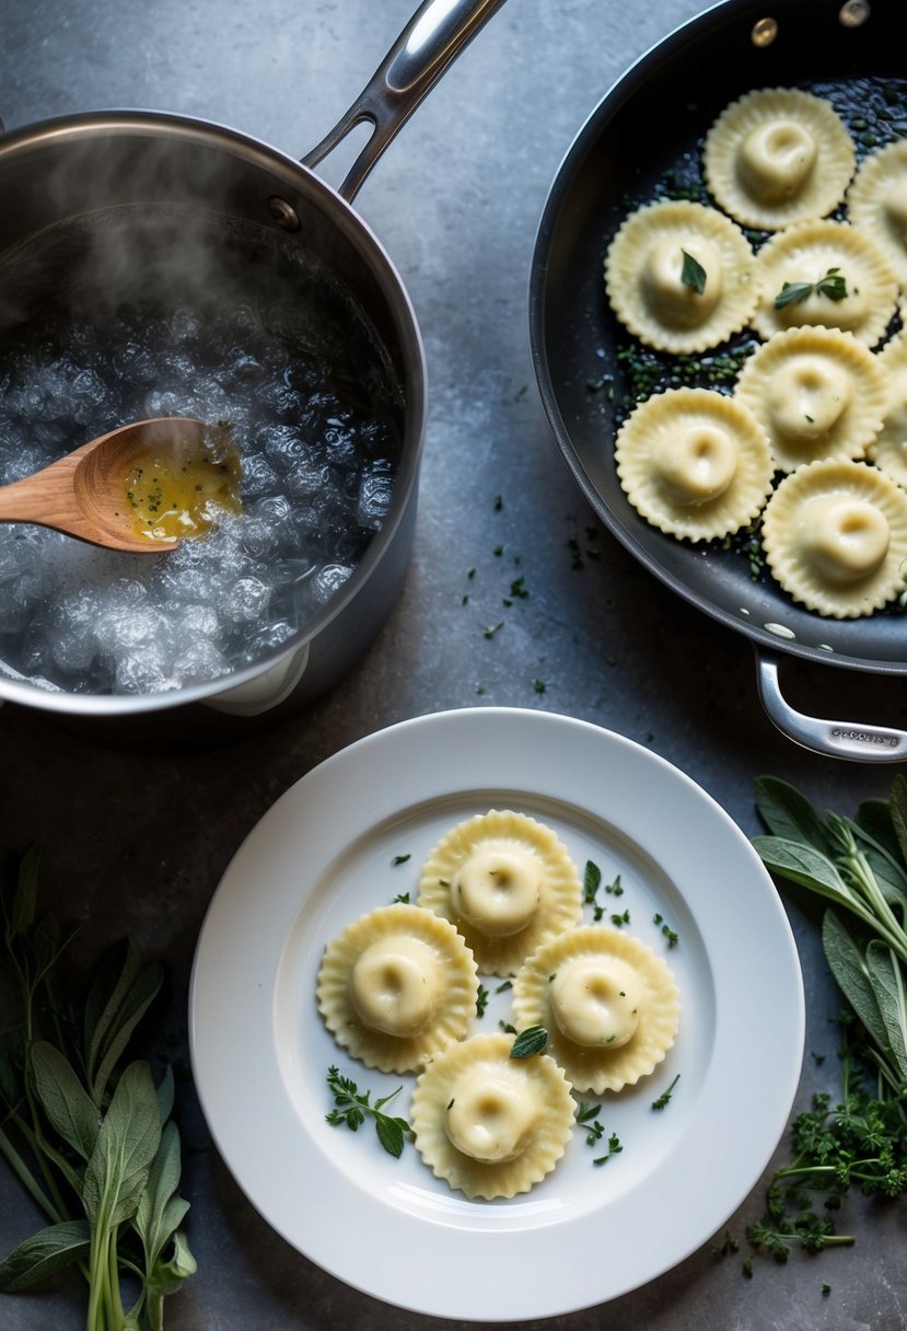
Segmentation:
[(0, 486), (0, 522), (35, 522), (108, 550), (160, 555), (178, 538), (137, 530), (128, 475), (142, 459), (198, 449), (209, 427), (188, 417), (136, 421), (102, 434), (23, 480)]

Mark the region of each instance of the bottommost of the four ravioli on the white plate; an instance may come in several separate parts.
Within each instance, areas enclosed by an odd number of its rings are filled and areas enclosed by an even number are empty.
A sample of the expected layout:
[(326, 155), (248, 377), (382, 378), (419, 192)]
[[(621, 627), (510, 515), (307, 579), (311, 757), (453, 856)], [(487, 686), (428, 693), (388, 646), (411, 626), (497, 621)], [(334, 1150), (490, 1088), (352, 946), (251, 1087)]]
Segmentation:
[(491, 1201), (527, 1193), (571, 1139), (571, 1087), (547, 1054), (511, 1058), (513, 1037), (448, 1045), (412, 1093), (416, 1150), (438, 1178)]

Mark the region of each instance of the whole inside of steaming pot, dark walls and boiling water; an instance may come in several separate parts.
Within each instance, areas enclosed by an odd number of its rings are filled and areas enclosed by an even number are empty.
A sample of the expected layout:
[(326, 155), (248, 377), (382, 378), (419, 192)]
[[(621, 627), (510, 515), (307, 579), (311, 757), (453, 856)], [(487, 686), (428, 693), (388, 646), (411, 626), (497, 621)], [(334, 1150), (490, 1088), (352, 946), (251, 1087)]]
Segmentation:
[(190, 415), (231, 423), (243, 510), (161, 555), (0, 527), (0, 688), (129, 711), (254, 676), (350, 602), (415, 483), (420, 347), (390, 264), (317, 178), (211, 126), (15, 136), (0, 189), (21, 204), (0, 222), (0, 482)]

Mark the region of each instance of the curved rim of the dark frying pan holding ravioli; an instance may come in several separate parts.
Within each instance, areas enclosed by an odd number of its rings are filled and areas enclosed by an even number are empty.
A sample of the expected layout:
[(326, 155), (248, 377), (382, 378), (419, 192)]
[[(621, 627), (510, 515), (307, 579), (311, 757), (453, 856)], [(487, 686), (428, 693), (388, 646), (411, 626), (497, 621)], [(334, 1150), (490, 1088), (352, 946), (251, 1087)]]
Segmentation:
[[(610, 534), (642, 564), (642, 567), (676, 592), (688, 604), (710, 619), (742, 634), (766, 654), (782, 652), (787, 656), (801, 658), (819, 666), (831, 666), (839, 669), (863, 672), (871, 675), (904, 675), (907, 673), (907, 660), (870, 660), (867, 658), (852, 656), (841, 651), (822, 651), (795, 639), (782, 638), (757, 623), (745, 623), (714, 603), (710, 598), (697, 592), (686, 580), (657, 563), (642, 547), (636, 535), (624, 526), (620, 518), (612, 511), (606, 499), (596, 488), (581, 461), (581, 450), (573, 442), (571, 431), (563, 418), (560, 402), (549, 373), (549, 362), (545, 341), (545, 294), (548, 260), (551, 254), (552, 238), (564, 205), (568, 202), (576, 178), (585, 165), (590, 152), (601, 141), (608, 122), (617, 109), (622, 106), (637, 92), (641, 83), (652, 73), (657, 75), (666, 56), (674, 48), (696, 40), (701, 31), (710, 32), (715, 19), (722, 13), (739, 17), (741, 23), (746, 11), (753, 16), (762, 15), (765, 5), (761, 0), (717, 0), (706, 9), (684, 20), (662, 39), (649, 47), (628, 68), (612, 81), (598, 102), (583, 121), (567, 152), (555, 172), (552, 184), (545, 194), (545, 202), (536, 228), (529, 269), (529, 346), (536, 387), (541, 399), (541, 406), (548, 419), (548, 425), (555, 435), (561, 457), (567, 463), (573, 479), (579, 484), (585, 499), (610, 531)], [(602, 124), (604, 122), (604, 124)]]

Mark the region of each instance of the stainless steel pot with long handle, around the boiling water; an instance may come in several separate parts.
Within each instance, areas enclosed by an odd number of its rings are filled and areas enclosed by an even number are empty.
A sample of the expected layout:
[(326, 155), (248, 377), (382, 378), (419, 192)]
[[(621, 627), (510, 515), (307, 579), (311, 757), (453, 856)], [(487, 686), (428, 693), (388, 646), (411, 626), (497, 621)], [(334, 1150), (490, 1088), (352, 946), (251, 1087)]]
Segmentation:
[[(231, 719), (242, 731), (314, 699), (372, 642), (412, 546), (427, 385), (407, 291), (351, 205), (400, 125), (501, 3), (427, 0), (344, 117), (302, 162), (234, 129), (150, 112), (76, 114), (0, 138), (0, 252), (43, 228), (121, 205), (189, 205), (270, 228), (282, 244), (314, 253), (352, 293), (383, 345), (403, 406), (402, 455), (383, 526), (348, 582), (297, 638), (231, 675), (148, 695), (48, 691), (0, 662), (0, 697), (70, 719), (136, 719), (180, 708), (181, 725), (184, 709), (203, 704), (201, 729), (223, 729)], [(372, 125), (371, 137), (334, 190), (311, 168), (363, 121)]]

